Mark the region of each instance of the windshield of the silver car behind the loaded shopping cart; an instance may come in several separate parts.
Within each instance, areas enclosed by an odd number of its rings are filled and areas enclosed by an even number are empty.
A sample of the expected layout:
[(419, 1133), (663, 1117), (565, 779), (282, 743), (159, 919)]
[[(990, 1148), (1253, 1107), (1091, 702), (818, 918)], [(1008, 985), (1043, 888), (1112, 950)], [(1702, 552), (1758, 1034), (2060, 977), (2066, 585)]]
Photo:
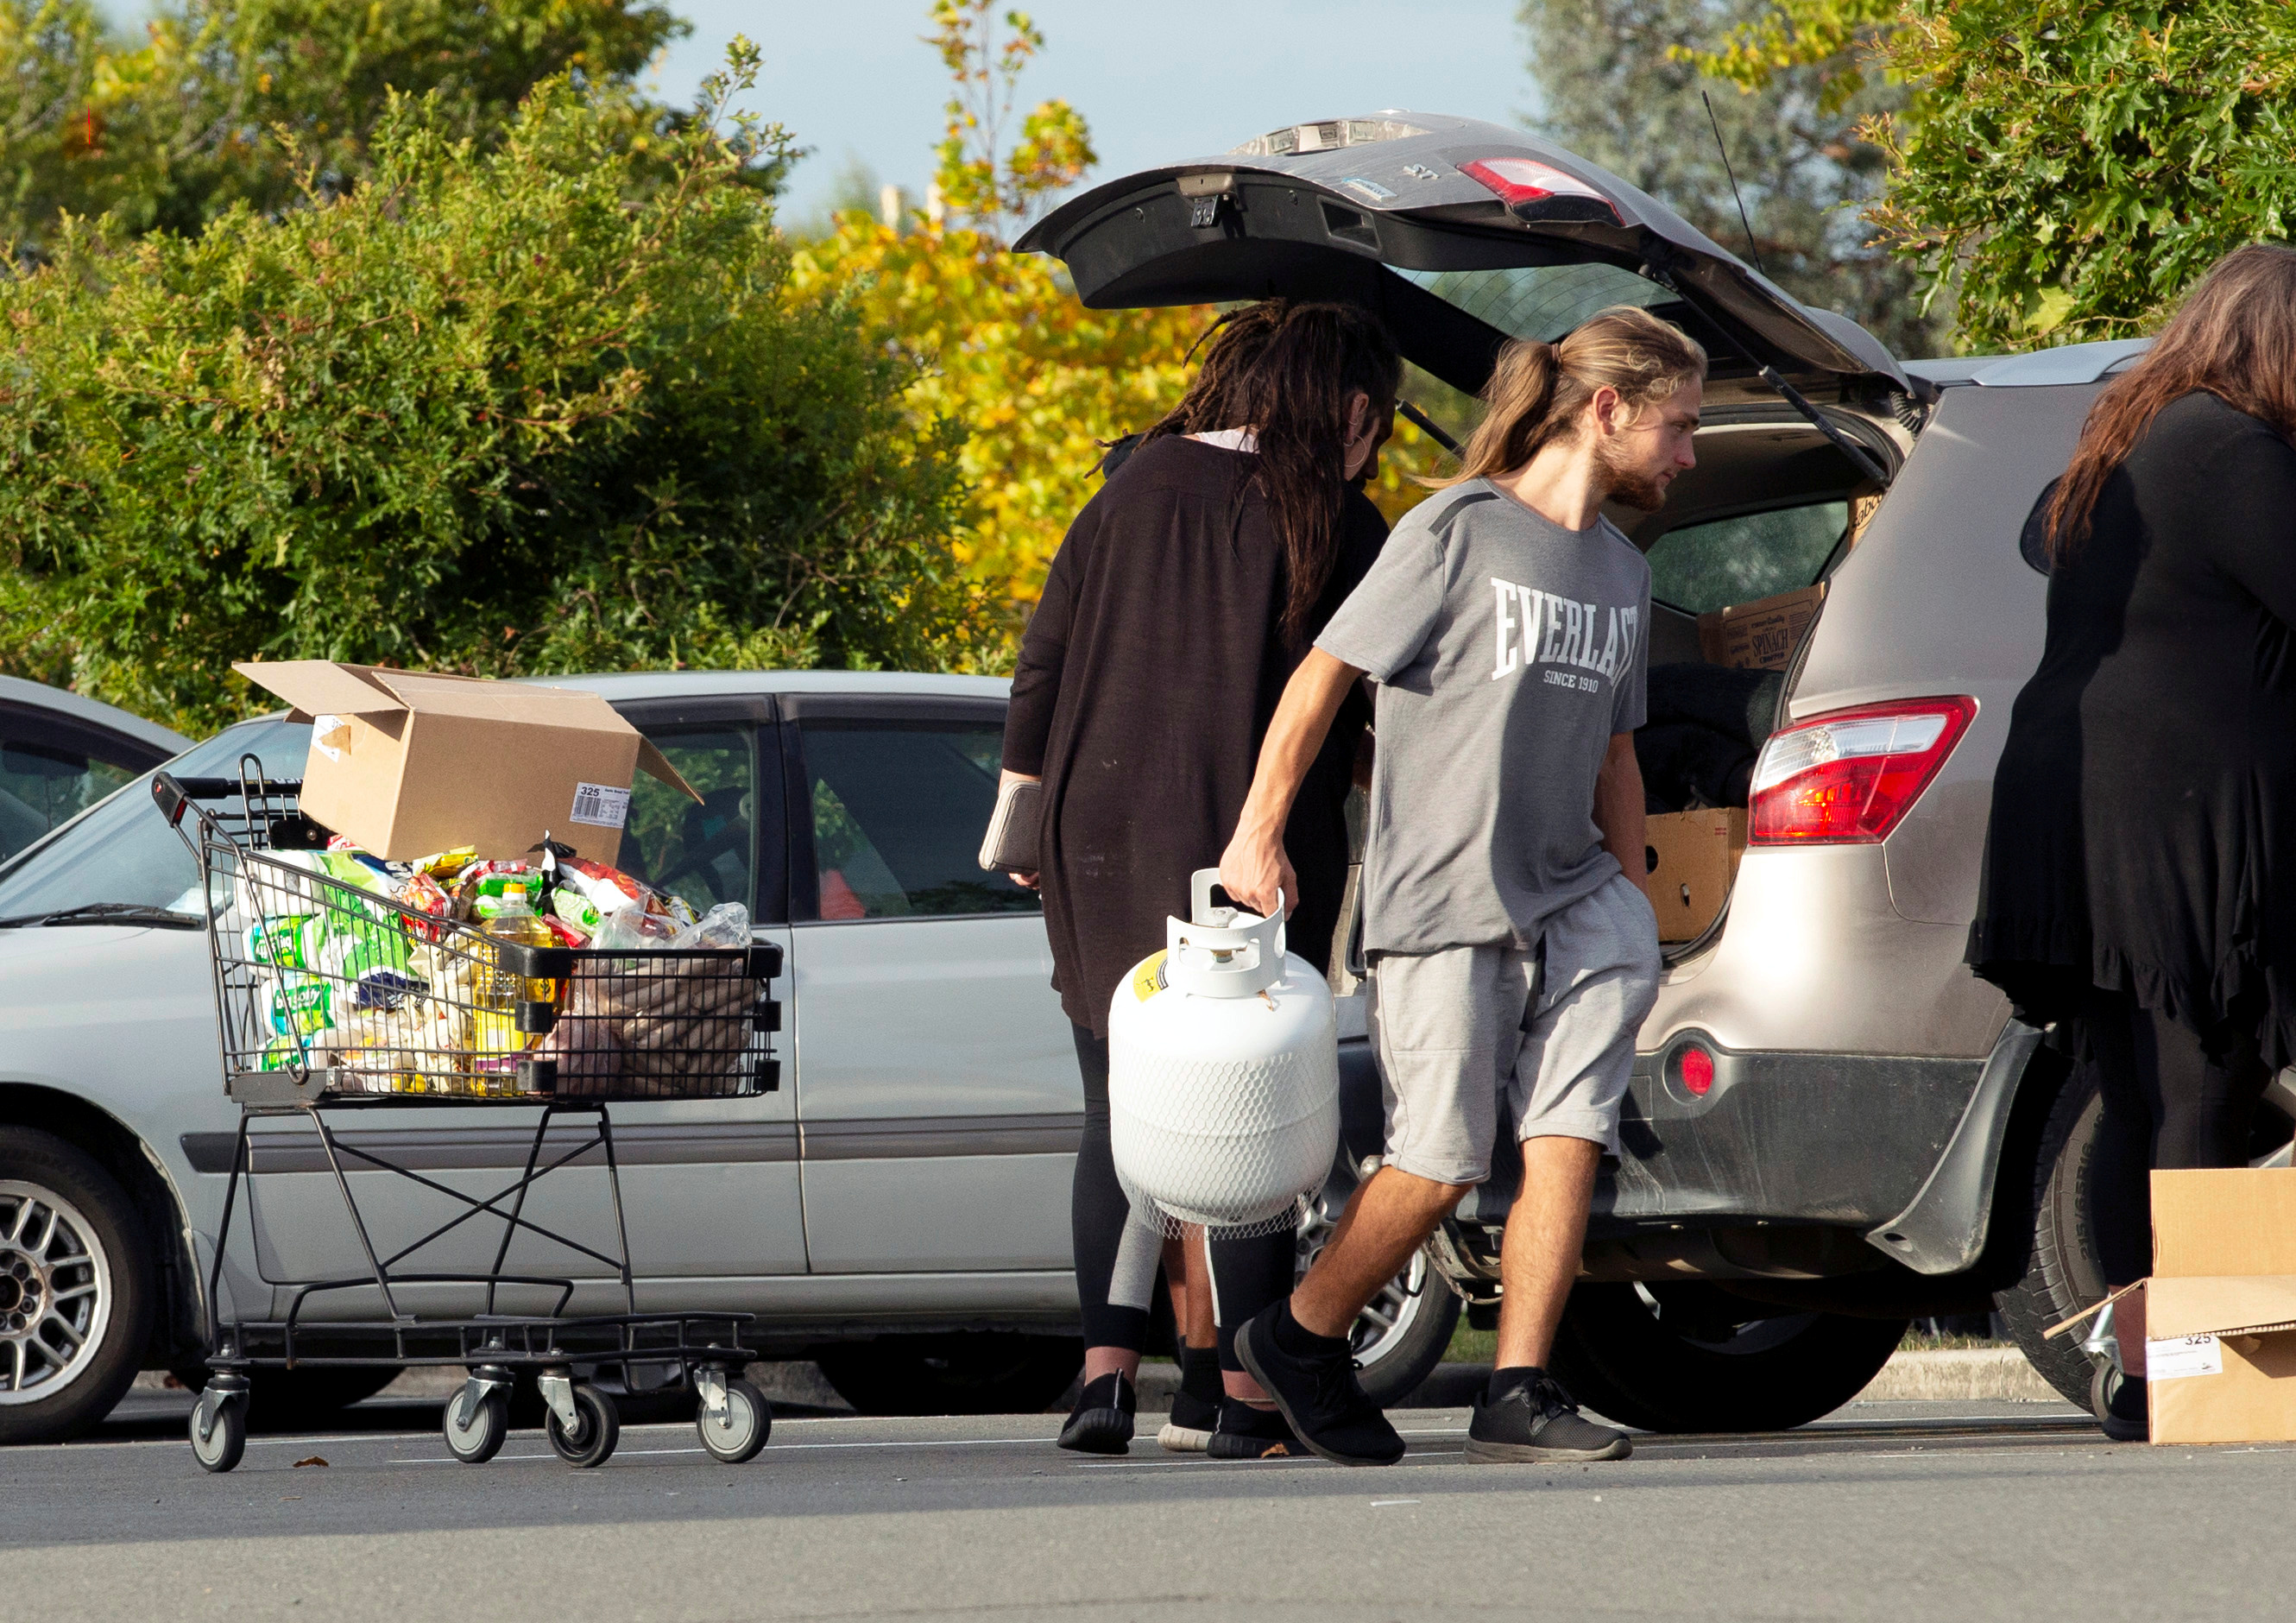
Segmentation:
[[(310, 723), (243, 721), (168, 762), (179, 778), (236, 776), (255, 755), (278, 778), (303, 776)], [(149, 774), (126, 783), (37, 849), (0, 863), (0, 918), (87, 902), (200, 911), (200, 868), (152, 803)]]

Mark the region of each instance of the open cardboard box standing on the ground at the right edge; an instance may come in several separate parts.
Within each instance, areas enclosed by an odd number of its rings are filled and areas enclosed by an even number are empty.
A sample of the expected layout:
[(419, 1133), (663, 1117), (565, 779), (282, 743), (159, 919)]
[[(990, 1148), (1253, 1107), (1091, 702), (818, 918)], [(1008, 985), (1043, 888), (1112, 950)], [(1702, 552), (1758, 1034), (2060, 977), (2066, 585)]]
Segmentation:
[(2296, 1171), (2154, 1173), (2156, 1444), (2296, 1442)]

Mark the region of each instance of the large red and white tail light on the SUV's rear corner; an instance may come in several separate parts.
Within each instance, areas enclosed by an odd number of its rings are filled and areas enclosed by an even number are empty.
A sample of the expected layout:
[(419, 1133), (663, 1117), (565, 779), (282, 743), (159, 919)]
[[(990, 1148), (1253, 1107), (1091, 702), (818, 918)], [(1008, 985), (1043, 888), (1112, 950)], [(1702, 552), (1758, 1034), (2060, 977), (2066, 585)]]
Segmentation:
[(1750, 845), (1874, 845), (1922, 799), (1972, 698), (1860, 705), (1773, 732), (1754, 762)]

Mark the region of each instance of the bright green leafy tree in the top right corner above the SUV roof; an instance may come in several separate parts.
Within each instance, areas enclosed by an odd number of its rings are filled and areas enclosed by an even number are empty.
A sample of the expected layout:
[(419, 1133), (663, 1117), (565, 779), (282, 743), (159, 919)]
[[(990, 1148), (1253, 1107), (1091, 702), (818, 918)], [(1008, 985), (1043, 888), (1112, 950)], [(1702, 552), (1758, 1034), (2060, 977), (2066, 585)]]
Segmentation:
[(2296, 7), (1915, 0), (1890, 71), (1926, 83), (1874, 209), (1977, 349), (2126, 337), (2296, 216)]

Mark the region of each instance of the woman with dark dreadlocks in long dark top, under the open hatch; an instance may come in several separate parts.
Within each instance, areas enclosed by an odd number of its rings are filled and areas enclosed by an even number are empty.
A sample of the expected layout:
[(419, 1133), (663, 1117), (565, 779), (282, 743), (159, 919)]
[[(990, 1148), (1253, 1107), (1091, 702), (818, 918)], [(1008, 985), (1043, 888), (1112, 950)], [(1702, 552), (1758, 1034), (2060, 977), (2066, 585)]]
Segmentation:
[[(1141, 1233), (1125, 1247), (1109, 999), (1164, 941), (1164, 918), (1187, 911), (1189, 875), (1219, 861), (1283, 682), (1387, 537), (1355, 482), (1387, 438), (1401, 372), (1387, 331), (1350, 305), (1267, 301), (1228, 317), (1180, 406), (1068, 528), (1022, 638), (1003, 767), (1045, 781), (1038, 882), (1052, 985), (1084, 1072), (1072, 1224), (1086, 1384), (1063, 1449), (1127, 1449), (1148, 1331), (1141, 1274), (1155, 1267)], [(1366, 721), (1357, 698), (1286, 836), (1300, 872), (1286, 934), (1318, 969), (1339, 923)], [(1256, 1405), (1233, 1336), (1290, 1290), (1293, 1251), (1290, 1233), (1210, 1247), (1228, 1393), (1212, 1453), (1290, 1446), (1281, 1419)]]

